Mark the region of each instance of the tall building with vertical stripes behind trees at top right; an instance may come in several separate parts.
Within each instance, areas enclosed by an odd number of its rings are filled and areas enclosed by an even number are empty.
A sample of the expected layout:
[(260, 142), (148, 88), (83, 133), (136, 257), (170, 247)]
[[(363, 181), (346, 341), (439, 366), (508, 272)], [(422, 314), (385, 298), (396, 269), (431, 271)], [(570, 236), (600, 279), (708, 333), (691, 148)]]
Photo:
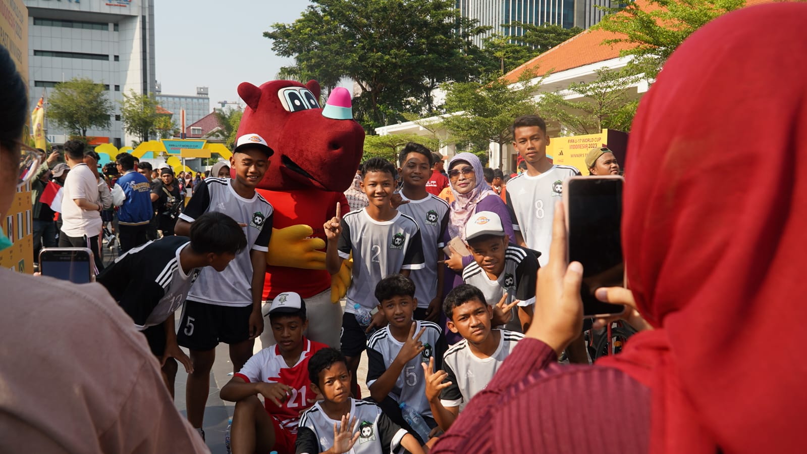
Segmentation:
[(504, 36), (523, 33), (520, 27), (502, 27), (505, 23), (550, 23), (564, 28), (575, 25), (575, 0), (457, 0), (457, 8), (463, 17), (478, 20), (480, 26), (492, 27), (491, 31), (474, 37), (474, 44), (479, 47), (493, 33)]

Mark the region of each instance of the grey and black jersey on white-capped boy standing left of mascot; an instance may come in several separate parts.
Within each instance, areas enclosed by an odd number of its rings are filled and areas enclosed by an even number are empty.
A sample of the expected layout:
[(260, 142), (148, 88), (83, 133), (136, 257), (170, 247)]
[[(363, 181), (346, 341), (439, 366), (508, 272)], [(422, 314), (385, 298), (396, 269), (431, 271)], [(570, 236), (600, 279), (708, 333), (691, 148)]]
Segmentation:
[(251, 199), (238, 195), (232, 188), (232, 179), (209, 178), (194, 187), (194, 196), (179, 218), (193, 222), (206, 212), (223, 212), (246, 225), (247, 247), (236, 254), (224, 271), (204, 267), (188, 299), (220, 306), (252, 305), (253, 267), (249, 252), (269, 250), (274, 208), (257, 192)]

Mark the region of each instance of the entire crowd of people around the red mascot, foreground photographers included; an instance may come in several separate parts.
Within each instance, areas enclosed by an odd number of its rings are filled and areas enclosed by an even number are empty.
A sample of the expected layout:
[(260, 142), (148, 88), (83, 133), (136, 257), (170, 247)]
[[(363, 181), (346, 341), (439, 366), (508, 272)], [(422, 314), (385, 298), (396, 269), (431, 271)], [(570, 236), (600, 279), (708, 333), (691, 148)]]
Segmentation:
[[(540, 116), (513, 120), (523, 171), (506, 182), (473, 153), (454, 155), (443, 175), (441, 156), (416, 143), (396, 163), (363, 162), (357, 204), (337, 204), (323, 225), (328, 272), (353, 259), (339, 349), (307, 337), (298, 293), (262, 301), (273, 208), (256, 187), (274, 154), (262, 137), (239, 137), (232, 170), (193, 182), (178, 212), (173, 171), (161, 170), (155, 191), (148, 170), (119, 155), (102, 195), (97, 158), (65, 144), (69, 171), (50, 170), (67, 173), (59, 244), (98, 250), (100, 213), (115, 205), (128, 247), (99, 267), (100, 286), (0, 271), (0, 331), (20, 346), (0, 351), (0, 451), (206, 452), (221, 342), (236, 453), (798, 451), (807, 392), (793, 361), (801, 332), (788, 321), (807, 229), (807, 61), (785, 57), (807, 42), (805, 20), (804, 4), (725, 15), (672, 54), (642, 99), (623, 201), (630, 289), (596, 290), (625, 305), (639, 333), (594, 365), (581, 338), (583, 267), (568, 263), (559, 203), (579, 171), (546, 157)], [(5, 50), (0, 70), (5, 215), (15, 183), (44, 182), (31, 163), (45, 157), (20, 142), (26, 90)], [(765, 159), (738, 143), (749, 129), (765, 133)], [(754, 191), (742, 162), (763, 180)], [(621, 173), (607, 148), (590, 150), (586, 166)], [(155, 215), (163, 237), (149, 242)], [(265, 324), (275, 343), (253, 355)], [(187, 420), (172, 403), (177, 361), (189, 373)]]

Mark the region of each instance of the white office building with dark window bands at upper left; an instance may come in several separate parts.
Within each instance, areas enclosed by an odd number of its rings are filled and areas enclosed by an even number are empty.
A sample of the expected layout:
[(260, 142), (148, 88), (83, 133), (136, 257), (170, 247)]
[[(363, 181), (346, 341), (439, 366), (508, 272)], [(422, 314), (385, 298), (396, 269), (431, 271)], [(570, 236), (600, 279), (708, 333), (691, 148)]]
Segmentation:
[[(155, 90), (154, 0), (25, 0), (28, 7), (29, 102), (71, 78), (103, 84), (115, 110), (111, 128), (90, 129), (95, 143), (121, 147), (136, 137), (123, 132), (123, 93)], [(45, 107), (47, 111), (47, 106)], [(69, 134), (47, 123), (48, 140)]]

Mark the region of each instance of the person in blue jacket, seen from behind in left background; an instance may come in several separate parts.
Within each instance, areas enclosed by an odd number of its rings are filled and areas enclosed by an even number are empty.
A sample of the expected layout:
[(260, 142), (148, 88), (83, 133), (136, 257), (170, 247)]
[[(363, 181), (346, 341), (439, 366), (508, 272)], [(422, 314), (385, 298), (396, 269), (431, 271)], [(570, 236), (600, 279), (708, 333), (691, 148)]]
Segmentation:
[(151, 183), (135, 170), (135, 158), (129, 153), (115, 157), (121, 176), (115, 183), (113, 199), (123, 194), (123, 201), (114, 200), (118, 206), (118, 236), (120, 252), (145, 244), (148, 222), (154, 216), (151, 202)]

